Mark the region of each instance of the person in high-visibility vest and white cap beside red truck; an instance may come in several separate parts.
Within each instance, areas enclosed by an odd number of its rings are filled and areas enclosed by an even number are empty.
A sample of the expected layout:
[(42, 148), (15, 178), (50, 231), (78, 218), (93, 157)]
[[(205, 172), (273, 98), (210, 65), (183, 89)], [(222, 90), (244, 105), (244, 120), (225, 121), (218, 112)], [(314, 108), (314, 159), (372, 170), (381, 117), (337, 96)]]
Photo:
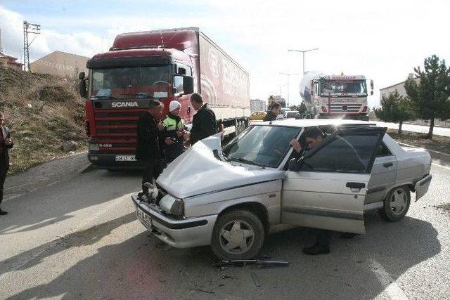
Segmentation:
[(184, 135), (187, 131), (186, 126), (184, 126), (184, 119), (179, 117), (180, 110), (181, 103), (175, 100), (171, 101), (169, 103), (169, 114), (162, 122), (166, 127), (163, 150), (167, 164), (170, 164), (184, 152)]

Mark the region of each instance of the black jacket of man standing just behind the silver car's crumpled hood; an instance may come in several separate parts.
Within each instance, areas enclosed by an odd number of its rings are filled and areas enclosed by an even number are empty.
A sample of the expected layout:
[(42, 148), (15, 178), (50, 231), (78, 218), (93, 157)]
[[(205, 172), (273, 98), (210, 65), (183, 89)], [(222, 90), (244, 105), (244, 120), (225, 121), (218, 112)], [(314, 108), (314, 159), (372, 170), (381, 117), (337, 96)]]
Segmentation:
[(217, 121), (214, 112), (205, 103), (192, 118), (191, 144), (217, 133)]

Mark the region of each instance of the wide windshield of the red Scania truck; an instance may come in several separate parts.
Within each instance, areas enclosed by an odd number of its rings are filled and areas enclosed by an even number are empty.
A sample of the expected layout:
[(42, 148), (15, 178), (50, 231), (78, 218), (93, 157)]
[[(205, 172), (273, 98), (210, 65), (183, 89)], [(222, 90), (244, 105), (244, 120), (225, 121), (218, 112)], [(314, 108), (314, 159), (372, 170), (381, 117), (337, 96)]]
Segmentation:
[(91, 70), (93, 98), (164, 98), (172, 91), (171, 67), (121, 67)]

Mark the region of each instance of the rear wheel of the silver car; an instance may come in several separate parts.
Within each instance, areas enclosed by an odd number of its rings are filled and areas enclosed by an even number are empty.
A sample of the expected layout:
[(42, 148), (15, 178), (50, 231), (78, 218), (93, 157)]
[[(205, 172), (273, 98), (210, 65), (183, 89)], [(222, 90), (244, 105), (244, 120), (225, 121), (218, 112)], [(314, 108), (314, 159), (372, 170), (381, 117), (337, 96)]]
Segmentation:
[(380, 215), (386, 221), (396, 222), (404, 219), (411, 204), (411, 193), (407, 186), (399, 186), (391, 190), (385, 197)]

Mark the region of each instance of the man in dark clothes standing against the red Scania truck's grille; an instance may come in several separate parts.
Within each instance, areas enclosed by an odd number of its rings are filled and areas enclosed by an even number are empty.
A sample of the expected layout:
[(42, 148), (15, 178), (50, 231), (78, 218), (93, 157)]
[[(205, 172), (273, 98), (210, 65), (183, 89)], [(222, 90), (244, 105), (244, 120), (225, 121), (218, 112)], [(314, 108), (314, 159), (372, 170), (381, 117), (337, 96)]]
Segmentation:
[(162, 108), (164, 105), (158, 100), (150, 102), (148, 112), (144, 112), (137, 126), (136, 159), (143, 163), (142, 192), (148, 194), (144, 183), (152, 183), (162, 173), (162, 152), (160, 138), (165, 129), (161, 123)]

